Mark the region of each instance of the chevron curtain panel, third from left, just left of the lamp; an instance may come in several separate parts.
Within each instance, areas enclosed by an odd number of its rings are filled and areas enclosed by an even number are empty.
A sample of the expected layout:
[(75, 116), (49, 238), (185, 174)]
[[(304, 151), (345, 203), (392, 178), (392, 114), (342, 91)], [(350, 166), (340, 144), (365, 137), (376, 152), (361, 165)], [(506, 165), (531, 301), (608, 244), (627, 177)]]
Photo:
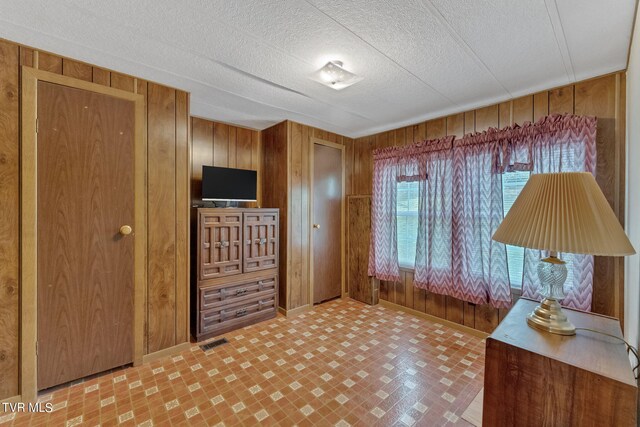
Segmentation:
[(507, 250), (491, 239), (503, 218), (499, 140), (465, 136), (453, 149), (453, 278), (447, 293), (476, 304), (511, 306)]

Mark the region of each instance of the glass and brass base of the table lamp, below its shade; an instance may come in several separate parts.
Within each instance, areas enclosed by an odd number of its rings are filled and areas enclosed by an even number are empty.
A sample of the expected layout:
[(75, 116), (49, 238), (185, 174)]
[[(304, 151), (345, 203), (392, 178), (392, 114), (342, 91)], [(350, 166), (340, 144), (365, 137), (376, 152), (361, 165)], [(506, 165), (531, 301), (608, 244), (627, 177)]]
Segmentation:
[(576, 327), (567, 320), (567, 316), (562, 312), (562, 306), (558, 303), (558, 299), (565, 296), (564, 281), (567, 278), (565, 262), (552, 253), (548, 258), (540, 260), (538, 277), (542, 284), (544, 299), (533, 312), (529, 313), (527, 324), (552, 334), (575, 335)]

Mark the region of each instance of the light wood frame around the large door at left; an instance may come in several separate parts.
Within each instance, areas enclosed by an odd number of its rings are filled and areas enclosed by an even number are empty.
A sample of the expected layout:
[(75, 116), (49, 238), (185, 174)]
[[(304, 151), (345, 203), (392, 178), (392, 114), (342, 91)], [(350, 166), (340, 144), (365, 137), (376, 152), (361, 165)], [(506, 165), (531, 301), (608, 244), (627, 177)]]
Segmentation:
[(87, 90), (134, 103), (134, 289), (133, 363), (142, 363), (147, 281), (146, 174), (147, 141), (144, 137), (145, 101), (141, 94), (102, 86), (68, 76), (22, 67), (22, 138), (20, 141), (20, 394), (23, 401), (38, 395), (38, 82)]

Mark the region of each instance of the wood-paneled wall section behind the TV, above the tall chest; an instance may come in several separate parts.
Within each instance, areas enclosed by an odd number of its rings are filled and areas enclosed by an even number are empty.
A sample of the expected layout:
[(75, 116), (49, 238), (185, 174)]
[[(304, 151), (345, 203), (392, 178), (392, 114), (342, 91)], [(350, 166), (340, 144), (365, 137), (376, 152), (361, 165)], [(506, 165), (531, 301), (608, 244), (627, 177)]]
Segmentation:
[(260, 204), (260, 131), (191, 118), (191, 202), (201, 202), (202, 166), (258, 171)]

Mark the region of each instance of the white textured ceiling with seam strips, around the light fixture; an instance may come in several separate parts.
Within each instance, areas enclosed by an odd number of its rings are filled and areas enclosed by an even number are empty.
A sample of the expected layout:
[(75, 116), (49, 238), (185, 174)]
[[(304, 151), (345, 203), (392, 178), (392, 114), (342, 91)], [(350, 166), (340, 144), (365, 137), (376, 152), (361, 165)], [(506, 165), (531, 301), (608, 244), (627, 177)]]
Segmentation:
[[(1, 0), (0, 37), (357, 137), (624, 69), (635, 0)], [(334, 91), (329, 60), (364, 77)]]

